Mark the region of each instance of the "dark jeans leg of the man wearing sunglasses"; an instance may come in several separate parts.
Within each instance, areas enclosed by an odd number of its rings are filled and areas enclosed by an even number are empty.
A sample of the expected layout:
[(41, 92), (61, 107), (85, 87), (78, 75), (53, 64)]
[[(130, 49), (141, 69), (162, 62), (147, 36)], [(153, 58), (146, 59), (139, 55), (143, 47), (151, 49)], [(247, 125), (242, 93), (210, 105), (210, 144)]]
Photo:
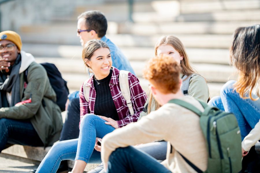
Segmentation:
[(79, 98), (73, 98), (68, 105), (65, 123), (60, 134), (60, 141), (79, 138), (80, 108)]

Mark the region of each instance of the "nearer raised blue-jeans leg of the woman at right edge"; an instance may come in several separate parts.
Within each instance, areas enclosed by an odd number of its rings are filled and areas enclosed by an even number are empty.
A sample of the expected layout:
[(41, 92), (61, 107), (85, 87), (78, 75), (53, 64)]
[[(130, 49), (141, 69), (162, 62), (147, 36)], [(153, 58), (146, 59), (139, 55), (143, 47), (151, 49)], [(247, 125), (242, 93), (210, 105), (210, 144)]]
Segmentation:
[(236, 116), (243, 140), (259, 122), (260, 99), (257, 101), (242, 99), (236, 91), (233, 91), (235, 82), (234, 80), (226, 82), (220, 94), (225, 111), (232, 112)]

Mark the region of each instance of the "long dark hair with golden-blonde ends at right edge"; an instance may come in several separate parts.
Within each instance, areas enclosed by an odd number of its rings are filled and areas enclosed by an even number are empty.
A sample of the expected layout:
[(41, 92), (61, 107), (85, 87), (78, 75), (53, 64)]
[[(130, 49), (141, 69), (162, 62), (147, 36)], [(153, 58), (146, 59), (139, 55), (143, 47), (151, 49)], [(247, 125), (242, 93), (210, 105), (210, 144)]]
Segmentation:
[[(259, 97), (260, 88), (260, 25), (240, 27), (235, 30), (230, 47), (231, 64), (239, 70), (235, 90), (244, 99), (252, 97), (255, 88)], [(249, 94), (249, 96), (247, 96)]]

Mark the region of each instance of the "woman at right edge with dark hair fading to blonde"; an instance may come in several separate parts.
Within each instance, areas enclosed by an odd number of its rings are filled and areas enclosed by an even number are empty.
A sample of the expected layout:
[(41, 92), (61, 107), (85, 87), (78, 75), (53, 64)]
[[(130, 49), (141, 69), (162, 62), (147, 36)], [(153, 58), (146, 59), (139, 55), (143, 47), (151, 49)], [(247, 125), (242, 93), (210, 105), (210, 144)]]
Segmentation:
[(260, 25), (236, 29), (230, 59), (239, 72), (238, 80), (224, 84), (220, 97), (213, 97), (209, 104), (235, 114), (244, 157), (260, 140)]

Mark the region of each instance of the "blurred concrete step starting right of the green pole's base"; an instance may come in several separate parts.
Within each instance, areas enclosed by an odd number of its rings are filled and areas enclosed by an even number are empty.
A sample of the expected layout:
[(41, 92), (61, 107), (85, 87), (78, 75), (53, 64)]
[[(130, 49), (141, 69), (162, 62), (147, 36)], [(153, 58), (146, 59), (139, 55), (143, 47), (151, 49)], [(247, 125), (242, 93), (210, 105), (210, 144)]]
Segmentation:
[(156, 12), (135, 12), (135, 22), (194, 22), (194, 21), (259, 21), (260, 10), (232, 10), (208, 13), (189, 13), (180, 15), (165, 15)]

